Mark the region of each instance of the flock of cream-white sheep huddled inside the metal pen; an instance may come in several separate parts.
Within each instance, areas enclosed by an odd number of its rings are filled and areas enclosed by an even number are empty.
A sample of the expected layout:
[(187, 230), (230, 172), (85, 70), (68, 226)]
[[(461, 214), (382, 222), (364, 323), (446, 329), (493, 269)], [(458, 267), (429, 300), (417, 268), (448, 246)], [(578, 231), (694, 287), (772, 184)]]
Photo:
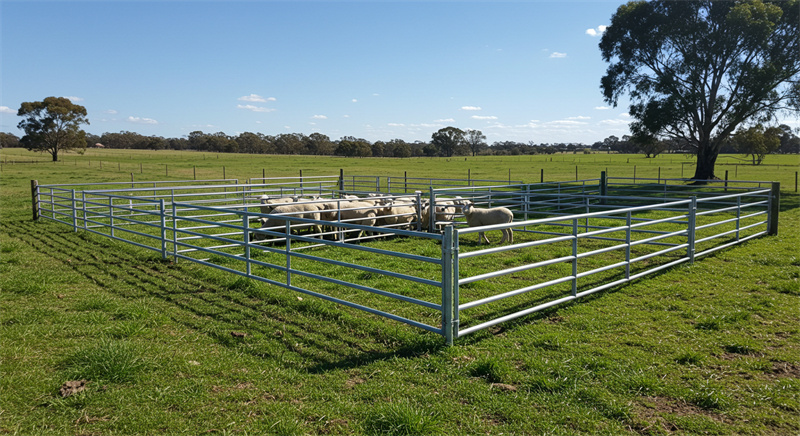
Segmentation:
[[(370, 227), (391, 227), (401, 230), (415, 230), (419, 222), (421, 229), (428, 230), (431, 222), (431, 213), (434, 214), (435, 223), (452, 222), (459, 211), (463, 213), (470, 227), (508, 224), (514, 219), (514, 214), (505, 207), (478, 208), (470, 200), (456, 198), (437, 198), (435, 204), (430, 200), (420, 200), (416, 196), (389, 196), (383, 194), (370, 194), (367, 197), (346, 195), (341, 199), (324, 199), (320, 197), (303, 198), (295, 195), (290, 197), (271, 198), (267, 195), (259, 197), (262, 214), (275, 216), (289, 216), (315, 221), (343, 222)], [(432, 207), (433, 206), (433, 207)], [(433, 212), (432, 212), (433, 211)], [(263, 217), (260, 220), (261, 229), (283, 232), (286, 220), (273, 216)], [(322, 224), (292, 222), (292, 227), (313, 227), (313, 232), (323, 234)], [(512, 230), (502, 229), (503, 238), (500, 243), (513, 242)], [(358, 232), (359, 236), (362, 232)], [(263, 233), (256, 233), (254, 239), (264, 239)], [(484, 232), (479, 233), (479, 243), (489, 239)]]

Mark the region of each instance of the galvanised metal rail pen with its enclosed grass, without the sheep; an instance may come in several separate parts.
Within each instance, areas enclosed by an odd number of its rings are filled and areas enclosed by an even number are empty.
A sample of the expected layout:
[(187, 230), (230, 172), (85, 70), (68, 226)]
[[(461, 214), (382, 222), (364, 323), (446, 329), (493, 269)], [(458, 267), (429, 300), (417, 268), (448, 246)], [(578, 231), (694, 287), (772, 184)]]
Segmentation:
[[(35, 219), (407, 323), (442, 335), (448, 344), (778, 232), (780, 185), (774, 182), (693, 186), (605, 173), (539, 184), (402, 180), (341, 171), (244, 184), (229, 179), (39, 185), (34, 180), (31, 195)], [(442, 199), (461, 197), (478, 206), (507, 207), (515, 221), (470, 228), (453, 213), (423, 223), (418, 209), (411, 228), (376, 227), (265, 214), (258, 200), (297, 194), (331, 202), (376, 191), (408, 199), (411, 189), (414, 202), (424, 197), (435, 207)], [(253, 225), (260, 219), (275, 226)], [(428, 232), (419, 231), (423, 224)], [(513, 244), (472, 242), (474, 233), (505, 228), (514, 230)], [(418, 242), (366, 243), (397, 236)]]

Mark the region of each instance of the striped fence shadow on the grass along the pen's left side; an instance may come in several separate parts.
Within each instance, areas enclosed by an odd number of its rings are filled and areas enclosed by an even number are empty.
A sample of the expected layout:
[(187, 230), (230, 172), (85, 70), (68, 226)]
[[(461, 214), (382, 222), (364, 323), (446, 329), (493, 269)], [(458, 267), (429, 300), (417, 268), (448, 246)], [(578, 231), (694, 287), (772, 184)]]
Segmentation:
[(87, 281), (127, 299), (153, 298), (172, 307), (163, 315), (221, 345), (277, 359), (315, 373), (352, 368), (445, 347), (444, 339), (277, 286), (254, 291), (230, 274), (204, 277), (207, 267), (173, 264), (157, 253), (70, 228), (9, 221), (4, 232), (61, 261)]

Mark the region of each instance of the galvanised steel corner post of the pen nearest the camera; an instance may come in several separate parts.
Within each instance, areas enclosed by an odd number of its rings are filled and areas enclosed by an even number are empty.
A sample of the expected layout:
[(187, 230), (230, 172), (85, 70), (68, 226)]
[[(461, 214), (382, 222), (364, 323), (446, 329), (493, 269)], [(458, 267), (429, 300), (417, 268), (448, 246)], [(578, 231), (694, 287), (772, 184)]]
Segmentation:
[(447, 345), (458, 338), (458, 231), (448, 224), (442, 238), (442, 335)]

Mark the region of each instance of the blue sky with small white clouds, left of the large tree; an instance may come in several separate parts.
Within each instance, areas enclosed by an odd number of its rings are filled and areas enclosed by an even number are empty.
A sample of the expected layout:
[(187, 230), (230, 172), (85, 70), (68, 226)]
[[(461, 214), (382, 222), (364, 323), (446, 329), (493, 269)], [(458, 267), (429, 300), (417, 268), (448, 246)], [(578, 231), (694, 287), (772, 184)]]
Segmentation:
[(98, 135), (591, 144), (628, 133), (597, 46), (622, 3), (3, 0), (0, 130), (63, 96)]

